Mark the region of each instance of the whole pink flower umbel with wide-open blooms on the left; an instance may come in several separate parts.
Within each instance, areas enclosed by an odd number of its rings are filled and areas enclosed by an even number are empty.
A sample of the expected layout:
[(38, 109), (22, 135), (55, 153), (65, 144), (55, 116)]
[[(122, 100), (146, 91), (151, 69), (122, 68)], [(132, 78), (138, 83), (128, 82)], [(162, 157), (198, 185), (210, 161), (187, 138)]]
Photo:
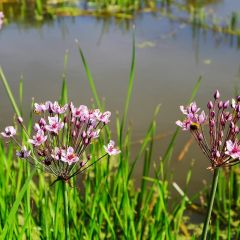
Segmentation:
[[(13, 126), (6, 127), (1, 135), (16, 143), (19, 158), (43, 168), (56, 180), (67, 182), (103, 157), (120, 153), (111, 140), (104, 146), (106, 153), (103, 156), (97, 159), (90, 156), (90, 144), (97, 141), (101, 130), (110, 121), (109, 111), (102, 113), (84, 105), (75, 107), (70, 103), (60, 106), (58, 102), (47, 101), (44, 104), (35, 103), (34, 112), (38, 119), (33, 124), (32, 135), (26, 130), (23, 119), (18, 117), (18, 123), (28, 138), (27, 146), (22, 146), (17, 139)], [(94, 160), (88, 164), (91, 158)]]

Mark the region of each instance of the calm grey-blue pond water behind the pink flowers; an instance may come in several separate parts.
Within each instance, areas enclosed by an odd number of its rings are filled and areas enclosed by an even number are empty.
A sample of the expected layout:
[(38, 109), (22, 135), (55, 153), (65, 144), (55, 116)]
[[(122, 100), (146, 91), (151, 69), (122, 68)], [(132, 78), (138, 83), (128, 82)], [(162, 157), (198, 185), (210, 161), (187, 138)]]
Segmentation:
[[(220, 16), (229, 16), (233, 10), (240, 10), (240, 1), (211, 1), (206, 8)], [(219, 89), (223, 98), (229, 98), (239, 87), (240, 49), (237, 38), (196, 30), (186, 22), (172, 20), (161, 13), (141, 13), (132, 21), (65, 16), (36, 22), (31, 18), (22, 21), (20, 16), (13, 16), (15, 18), (0, 31), (0, 65), (15, 96), (20, 76), (23, 76), (25, 113), (33, 97), (38, 102), (59, 97), (67, 49), (69, 98), (76, 104), (91, 104), (91, 90), (75, 44), (75, 39), (78, 39), (98, 94), (106, 99), (106, 109), (113, 113), (118, 110), (121, 114), (131, 63), (131, 26), (135, 24), (136, 77), (128, 119), (136, 142), (144, 136), (155, 107), (161, 104), (157, 132), (165, 137), (155, 143), (153, 161), (156, 163), (176, 129), (175, 121), (181, 118), (179, 105), (187, 102), (199, 76), (202, 76), (202, 82), (196, 100), (202, 107), (206, 106), (215, 89)], [(1, 84), (1, 128), (11, 123), (12, 114)], [(112, 129), (113, 132), (116, 129), (114, 120)], [(208, 160), (197, 144), (191, 145), (184, 160), (178, 160), (189, 137), (180, 133), (171, 164), (174, 181), (183, 187), (190, 162), (196, 160), (190, 186), (193, 193), (203, 186), (203, 179), (211, 178), (211, 173), (206, 170)], [(133, 151), (138, 148), (139, 144), (135, 144)], [(136, 177), (139, 173), (141, 163)]]

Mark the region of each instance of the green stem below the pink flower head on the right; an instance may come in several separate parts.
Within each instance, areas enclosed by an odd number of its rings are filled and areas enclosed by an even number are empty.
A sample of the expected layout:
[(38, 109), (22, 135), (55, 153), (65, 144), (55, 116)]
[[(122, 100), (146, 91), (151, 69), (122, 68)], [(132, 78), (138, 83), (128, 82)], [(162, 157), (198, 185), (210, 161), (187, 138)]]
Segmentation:
[(209, 226), (209, 222), (210, 222), (210, 218), (211, 218), (215, 193), (216, 193), (216, 190), (217, 190), (218, 176), (219, 176), (219, 168), (215, 168), (214, 169), (214, 174), (213, 174), (212, 189), (211, 189), (211, 194), (210, 194), (210, 201), (209, 201), (209, 204), (208, 204), (207, 216), (206, 216), (203, 231), (202, 231), (202, 240), (207, 239), (208, 226)]

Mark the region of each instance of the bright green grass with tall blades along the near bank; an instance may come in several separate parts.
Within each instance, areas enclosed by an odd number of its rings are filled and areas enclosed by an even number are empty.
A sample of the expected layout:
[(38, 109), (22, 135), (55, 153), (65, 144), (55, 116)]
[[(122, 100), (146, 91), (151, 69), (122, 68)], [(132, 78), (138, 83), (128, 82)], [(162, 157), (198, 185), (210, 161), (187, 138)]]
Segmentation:
[[(83, 68), (95, 98), (95, 105), (103, 108), (90, 72), (90, 67), (79, 47)], [(134, 87), (135, 42), (133, 40), (132, 61), (128, 92), (122, 117), (116, 119), (117, 139), (122, 154), (103, 159), (84, 174), (73, 179), (72, 185), (62, 186), (59, 181), (50, 186), (52, 179), (28, 163), (17, 159), (11, 143), (0, 142), (0, 236), (1, 239), (197, 239), (201, 226), (193, 225), (187, 211), (206, 212), (208, 187), (188, 197), (192, 167), (189, 167), (181, 196), (172, 202), (172, 182), (165, 172), (171, 164), (175, 139), (173, 134), (163, 160), (154, 158), (154, 138), (158, 106), (146, 131), (143, 143), (132, 157), (132, 127), (128, 125), (128, 106)], [(67, 54), (63, 73), (60, 101), (67, 102)], [(23, 80), (20, 81), (19, 101), (0, 71), (1, 80), (8, 93), (16, 115), (22, 112)], [(192, 100), (200, 86), (200, 79), (190, 94)], [(20, 103), (18, 106), (18, 102)], [(32, 116), (30, 114), (30, 124)], [(103, 138), (108, 138), (108, 131)], [(24, 133), (22, 133), (24, 134)], [(23, 141), (24, 141), (24, 135)], [(91, 149), (91, 155), (102, 155), (104, 139)], [(197, 147), (197, 146), (196, 146)], [(140, 185), (136, 187), (134, 172), (143, 161)], [(155, 162), (155, 164), (154, 164)], [(150, 169), (154, 174), (150, 175)], [(201, 176), (199, 176), (201, 178)], [(217, 197), (211, 223), (211, 239), (238, 239), (240, 236), (240, 171), (221, 171)], [(176, 187), (176, 185), (175, 185)], [(202, 196), (202, 205), (199, 204)], [(70, 236), (70, 237), (69, 237)]]

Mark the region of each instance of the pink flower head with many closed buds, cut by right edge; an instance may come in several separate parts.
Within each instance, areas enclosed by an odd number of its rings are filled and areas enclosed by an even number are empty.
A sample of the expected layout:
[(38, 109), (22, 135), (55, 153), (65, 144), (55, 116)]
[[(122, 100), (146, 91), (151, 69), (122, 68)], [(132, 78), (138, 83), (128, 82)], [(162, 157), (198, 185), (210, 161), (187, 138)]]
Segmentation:
[[(240, 141), (238, 121), (240, 119), (240, 96), (221, 101), (220, 93), (214, 93), (214, 101), (207, 104), (208, 116), (193, 102), (187, 107), (180, 106), (185, 115), (183, 121), (176, 124), (184, 131), (190, 131), (200, 148), (211, 162), (209, 169), (232, 166), (240, 162)], [(208, 125), (208, 133), (204, 132), (204, 125)]]

